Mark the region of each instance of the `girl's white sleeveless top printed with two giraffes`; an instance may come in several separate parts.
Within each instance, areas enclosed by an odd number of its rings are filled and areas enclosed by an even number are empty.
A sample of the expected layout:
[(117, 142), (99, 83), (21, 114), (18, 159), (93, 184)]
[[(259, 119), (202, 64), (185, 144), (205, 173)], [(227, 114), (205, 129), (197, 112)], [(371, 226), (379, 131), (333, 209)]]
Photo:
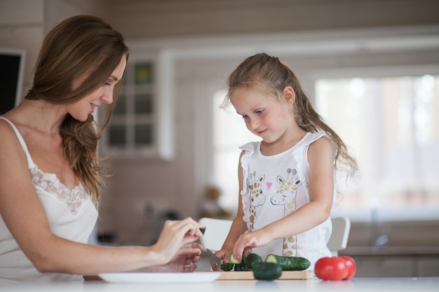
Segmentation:
[[(327, 137), (325, 133), (306, 133), (292, 148), (283, 153), (265, 156), (260, 151), (261, 141), (241, 146), (243, 168), (243, 219), (248, 230), (257, 230), (277, 221), (309, 203), (308, 148), (313, 141)], [(330, 139), (329, 139), (330, 140)], [(331, 140), (330, 140), (331, 141)], [(336, 151), (336, 145), (332, 149)], [(335, 174), (335, 172), (334, 172)], [(333, 205), (336, 199), (334, 177)], [(318, 258), (331, 256), (327, 241), (332, 232), (330, 218), (324, 223), (288, 238), (276, 239), (252, 249), (265, 259), (269, 253), (283, 256), (300, 256), (310, 260), (310, 270)]]

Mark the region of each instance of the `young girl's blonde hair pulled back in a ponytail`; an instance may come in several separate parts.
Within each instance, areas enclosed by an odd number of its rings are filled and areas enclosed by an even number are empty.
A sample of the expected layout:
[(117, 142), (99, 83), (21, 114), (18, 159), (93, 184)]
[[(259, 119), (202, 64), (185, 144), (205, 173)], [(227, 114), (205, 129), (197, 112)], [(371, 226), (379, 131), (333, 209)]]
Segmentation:
[(299, 127), (306, 132), (325, 132), (337, 144), (335, 166), (340, 168), (340, 164), (342, 164), (351, 169), (351, 174), (356, 172), (356, 159), (349, 154), (339, 135), (313, 109), (299, 79), (288, 66), (279, 61), (278, 57), (271, 57), (266, 53), (248, 57), (230, 74), (227, 85), (229, 85), (229, 91), (222, 108), (229, 106), (230, 96), (240, 88), (257, 90), (264, 95), (283, 101), (285, 100), (283, 89), (286, 86), (291, 86), (296, 95), (292, 114)]

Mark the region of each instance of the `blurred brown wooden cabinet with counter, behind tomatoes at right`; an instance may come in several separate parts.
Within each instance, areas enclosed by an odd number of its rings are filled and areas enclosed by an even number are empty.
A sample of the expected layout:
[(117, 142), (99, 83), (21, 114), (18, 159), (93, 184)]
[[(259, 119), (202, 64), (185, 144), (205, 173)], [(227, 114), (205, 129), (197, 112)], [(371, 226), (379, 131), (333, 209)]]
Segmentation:
[(353, 222), (348, 246), (340, 255), (356, 260), (356, 277), (439, 277), (439, 221), (379, 222), (388, 246), (368, 246), (369, 222)]

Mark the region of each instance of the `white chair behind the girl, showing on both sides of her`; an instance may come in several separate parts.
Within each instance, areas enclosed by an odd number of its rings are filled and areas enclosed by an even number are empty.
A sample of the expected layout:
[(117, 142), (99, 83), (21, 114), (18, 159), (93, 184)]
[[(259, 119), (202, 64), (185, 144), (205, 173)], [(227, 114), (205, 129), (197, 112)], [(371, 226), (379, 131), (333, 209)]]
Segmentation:
[[(331, 221), (332, 234), (327, 242), (327, 247), (332, 252), (332, 256), (337, 256), (338, 251), (346, 249), (349, 232), (351, 230), (351, 221), (345, 216), (331, 218)], [(229, 234), (231, 221), (203, 217), (198, 222), (206, 227), (203, 237), (200, 237), (203, 250), (210, 249), (212, 251), (218, 251), (221, 249), (224, 240)]]

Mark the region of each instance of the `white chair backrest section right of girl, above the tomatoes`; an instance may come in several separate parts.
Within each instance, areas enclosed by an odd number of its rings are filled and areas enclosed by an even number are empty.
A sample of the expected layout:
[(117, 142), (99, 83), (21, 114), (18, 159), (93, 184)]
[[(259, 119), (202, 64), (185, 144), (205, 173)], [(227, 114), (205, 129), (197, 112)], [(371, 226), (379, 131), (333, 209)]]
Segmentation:
[(346, 249), (351, 231), (351, 221), (346, 216), (331, 218), (331, 221), (332, 233), (327, 242), (327, 248), (332, 252), (332, 256), (337, 256), (338, 251)]

